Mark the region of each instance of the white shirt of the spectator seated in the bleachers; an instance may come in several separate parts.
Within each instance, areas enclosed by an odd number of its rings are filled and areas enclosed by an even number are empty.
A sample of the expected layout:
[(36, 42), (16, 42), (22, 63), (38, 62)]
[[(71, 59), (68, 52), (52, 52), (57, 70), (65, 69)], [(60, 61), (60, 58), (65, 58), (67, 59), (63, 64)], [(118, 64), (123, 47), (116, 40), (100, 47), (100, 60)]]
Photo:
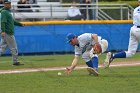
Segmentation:
[(77, 7), (70, 7), (68, 9), (68, 16), (69, 17), (74, 17), (76, 15), (81, 15), (80, 10)]

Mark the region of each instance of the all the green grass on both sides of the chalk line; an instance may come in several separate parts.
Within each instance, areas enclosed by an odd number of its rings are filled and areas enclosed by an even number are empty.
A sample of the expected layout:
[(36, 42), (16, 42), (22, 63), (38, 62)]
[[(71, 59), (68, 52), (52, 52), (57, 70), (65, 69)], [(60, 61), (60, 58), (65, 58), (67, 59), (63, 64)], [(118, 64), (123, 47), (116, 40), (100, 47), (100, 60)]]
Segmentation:
[[(105, 54), (100, 56), (103, 63)], [(24, 66), (12, 66), (11, 57), (0, 57), (0, 69), (47, 68), (69, 66), (73, 55), (20, 56)], [(135, 62), (140, 53), (114, 62)], [(79, 65), (84, 65), (82, 59)], [(57, 72), (62, 72), (58, 76)], [(70, 76), (64, 71), (21, 74), (1, 74), (0, 93), (139, 93), (140, 67), (114, 67), (99, 69), (99, 77), (89, 76), (86, 69), (75, 70)]]

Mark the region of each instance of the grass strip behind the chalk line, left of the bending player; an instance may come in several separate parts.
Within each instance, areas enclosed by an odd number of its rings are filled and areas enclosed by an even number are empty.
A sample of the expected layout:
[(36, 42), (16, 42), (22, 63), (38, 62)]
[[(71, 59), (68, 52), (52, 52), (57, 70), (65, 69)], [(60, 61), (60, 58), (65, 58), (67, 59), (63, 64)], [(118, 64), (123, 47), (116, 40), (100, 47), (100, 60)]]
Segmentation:
[[(24, 66), (11, 66), (11, 57), (0, 58), (0, 69), (20, 69), (20, 68), (43, 68), (43, 67), (58, 67), (66, 66), (73, 60), (73, 55), (52, 55), (52, 56), (19, 56), (19, 61), (24, 63)], [(80, 60), (81, 62), (82, 60)], [(83, 62), (82, 62), (83, 63)]]

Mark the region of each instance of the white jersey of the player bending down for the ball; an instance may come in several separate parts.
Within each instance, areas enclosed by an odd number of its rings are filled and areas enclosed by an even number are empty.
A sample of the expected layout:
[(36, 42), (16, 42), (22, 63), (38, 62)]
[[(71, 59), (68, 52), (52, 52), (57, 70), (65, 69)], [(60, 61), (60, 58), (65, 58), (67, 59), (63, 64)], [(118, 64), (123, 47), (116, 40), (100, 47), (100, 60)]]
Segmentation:
[[(95, 44), (92, 35), (92, 33), (84, 33), (77, 37), (79, 46), (75, 45), (75, 56), (80, 56), (85, 51), (91, 50), (92, 46)], [(100, 40), (101, 37), (98, 36), (98, 41)]]

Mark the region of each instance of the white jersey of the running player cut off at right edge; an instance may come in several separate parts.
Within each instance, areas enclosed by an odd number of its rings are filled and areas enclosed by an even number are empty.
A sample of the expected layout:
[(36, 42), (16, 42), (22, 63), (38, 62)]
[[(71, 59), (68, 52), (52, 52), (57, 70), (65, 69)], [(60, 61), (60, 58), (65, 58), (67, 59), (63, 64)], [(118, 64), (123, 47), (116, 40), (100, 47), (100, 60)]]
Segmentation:
[(133, 24), (140, 26), (140, 6), (136, 7), (133, 12)]

